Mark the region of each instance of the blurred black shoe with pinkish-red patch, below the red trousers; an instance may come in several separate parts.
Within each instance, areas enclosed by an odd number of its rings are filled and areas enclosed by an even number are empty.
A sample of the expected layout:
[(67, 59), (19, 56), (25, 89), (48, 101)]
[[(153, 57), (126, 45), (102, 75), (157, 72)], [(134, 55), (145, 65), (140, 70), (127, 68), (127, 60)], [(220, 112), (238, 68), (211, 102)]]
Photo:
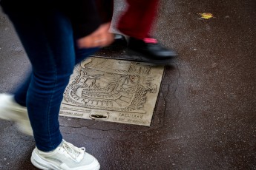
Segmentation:
[(144, 38), (143, 40), (140, 40), (130, 37), (128, 41), (128, 49), (153, 60), (168, 60), (177, 57), (177, 52), (163, 47), (154, 38)]

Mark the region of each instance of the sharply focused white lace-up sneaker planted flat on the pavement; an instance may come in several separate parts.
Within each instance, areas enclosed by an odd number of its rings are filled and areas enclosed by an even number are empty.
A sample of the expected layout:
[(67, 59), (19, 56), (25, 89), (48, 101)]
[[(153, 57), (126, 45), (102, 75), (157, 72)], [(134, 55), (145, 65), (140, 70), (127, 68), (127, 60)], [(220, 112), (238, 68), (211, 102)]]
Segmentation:
[(39, 169), (53, 170), (99, 170), (99, 162), (85, 148), (77, 148), (62, 140), (62, 143), (52, 152), (42, 152), (35, 148), (31, 163)]

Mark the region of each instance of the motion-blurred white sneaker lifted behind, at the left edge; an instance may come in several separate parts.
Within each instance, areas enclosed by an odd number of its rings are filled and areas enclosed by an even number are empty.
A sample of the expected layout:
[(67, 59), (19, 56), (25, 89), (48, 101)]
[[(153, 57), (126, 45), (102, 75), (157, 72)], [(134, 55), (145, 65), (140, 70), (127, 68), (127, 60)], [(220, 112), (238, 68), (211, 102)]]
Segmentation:
[(16, 103), (13, 95), (0, 94), (0, 118), (15, 121), (22, 133), (33, 135), (27, 108)]

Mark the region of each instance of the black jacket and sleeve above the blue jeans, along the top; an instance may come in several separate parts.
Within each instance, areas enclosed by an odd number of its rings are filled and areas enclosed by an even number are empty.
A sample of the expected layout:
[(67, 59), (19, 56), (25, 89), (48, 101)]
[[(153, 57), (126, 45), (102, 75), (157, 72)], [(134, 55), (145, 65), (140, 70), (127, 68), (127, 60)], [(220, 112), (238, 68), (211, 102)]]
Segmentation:
[(44, 15), (50, 10), (61, 10), (73, 26), (76, 38), (93, 33), (100, 24), (111, 21), (113, 0), (0, 0), (5, 13), (37, 13)]

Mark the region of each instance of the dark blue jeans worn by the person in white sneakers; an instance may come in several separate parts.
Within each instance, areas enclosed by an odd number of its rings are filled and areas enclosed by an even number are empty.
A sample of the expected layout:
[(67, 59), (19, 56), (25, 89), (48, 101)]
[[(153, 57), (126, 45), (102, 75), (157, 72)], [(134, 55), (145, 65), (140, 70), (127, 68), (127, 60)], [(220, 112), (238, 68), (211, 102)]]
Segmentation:
[(7, 15), (32, 64), (31, 75), (15, 93), (15, 100), (27, 106), (36, 147), (50, 152), (62, 142), (59, 108), (73, 68), (99, 48), (79, 50), (70, 20), (58, 10), (44, 12)]

